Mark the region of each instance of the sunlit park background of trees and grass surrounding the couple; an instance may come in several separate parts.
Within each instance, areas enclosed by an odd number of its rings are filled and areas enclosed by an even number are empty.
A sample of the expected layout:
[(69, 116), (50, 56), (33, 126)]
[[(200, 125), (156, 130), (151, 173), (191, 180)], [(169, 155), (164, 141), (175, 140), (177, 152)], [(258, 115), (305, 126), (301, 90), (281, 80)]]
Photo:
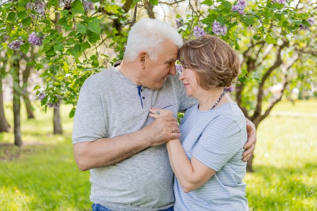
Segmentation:
[(250, 210), (317, 210), (313, 1), (0, 1), (0, 210), (91, 210), (71, 130), (90, 75), (122, 59), (142, 18), (184, 40), (208, 33), (239, 54), (226, 88), (257, 127)]

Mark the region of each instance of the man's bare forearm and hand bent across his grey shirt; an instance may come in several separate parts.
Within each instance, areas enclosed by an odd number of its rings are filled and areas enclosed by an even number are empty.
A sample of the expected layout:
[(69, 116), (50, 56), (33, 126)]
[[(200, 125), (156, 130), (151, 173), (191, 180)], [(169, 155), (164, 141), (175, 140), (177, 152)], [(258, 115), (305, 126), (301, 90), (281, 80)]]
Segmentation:
[(147, 147), (161, 145), (179, 137), (177, 120), (173, 116), (164, 116), (128, 135), (75, 143), (74, 157), (80, 170), (86, 171), (112, 165)]

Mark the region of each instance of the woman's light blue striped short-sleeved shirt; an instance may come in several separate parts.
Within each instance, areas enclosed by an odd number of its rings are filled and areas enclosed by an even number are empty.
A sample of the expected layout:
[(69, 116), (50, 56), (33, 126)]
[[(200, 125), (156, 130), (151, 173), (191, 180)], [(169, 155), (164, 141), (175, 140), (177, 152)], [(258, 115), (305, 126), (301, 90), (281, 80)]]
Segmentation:
[(235, 103), (200, 111), (197, 105), (187, 109), (180, 123), (180, 141), (188, 159), (192, 156), (216, 171), (200, 188), (185, 193), (174, 181), (176, 211), (248, 210), (246, 162), (243, 146), (247, 141), (246, 120)]

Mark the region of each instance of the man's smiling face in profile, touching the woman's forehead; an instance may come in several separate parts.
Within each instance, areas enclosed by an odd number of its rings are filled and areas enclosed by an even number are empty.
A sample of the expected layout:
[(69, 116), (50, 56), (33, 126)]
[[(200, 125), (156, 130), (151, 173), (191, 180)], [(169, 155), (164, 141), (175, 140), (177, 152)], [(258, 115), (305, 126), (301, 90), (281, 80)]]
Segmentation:
[(160, 89), (170, 75), (176, 74), (175, 62), (178, 57), (178, 46), (165, 40), (163, 51), (156, 61), (147, 58), (141, 84), (149, 89)]

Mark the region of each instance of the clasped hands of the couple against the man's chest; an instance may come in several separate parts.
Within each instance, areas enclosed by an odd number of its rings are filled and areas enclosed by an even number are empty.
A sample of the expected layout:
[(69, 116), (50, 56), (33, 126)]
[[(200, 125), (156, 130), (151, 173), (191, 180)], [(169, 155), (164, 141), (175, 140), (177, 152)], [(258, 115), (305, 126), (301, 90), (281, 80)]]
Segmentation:
[(148, 134), (151, 136), (151, 146), (161, 145), (180, 137), (177, 119), (174, 118), (171, 111), (155, 108), (150, 108), (149, 111), (149, 116), (155, 120), (144, 129), (148, 130)]

